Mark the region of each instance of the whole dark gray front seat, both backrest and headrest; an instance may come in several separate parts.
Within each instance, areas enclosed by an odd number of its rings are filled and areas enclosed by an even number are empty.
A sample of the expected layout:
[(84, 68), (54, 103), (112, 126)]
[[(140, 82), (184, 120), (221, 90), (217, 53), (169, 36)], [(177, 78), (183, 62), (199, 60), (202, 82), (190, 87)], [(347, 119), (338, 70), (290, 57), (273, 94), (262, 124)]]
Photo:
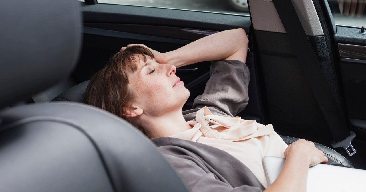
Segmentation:
[(187, 192), (155, 146), (111, 113), (70, 102), (5, 108), (70, 75), (78, 1), (1, 1), (0, 17), (0, 191)]

